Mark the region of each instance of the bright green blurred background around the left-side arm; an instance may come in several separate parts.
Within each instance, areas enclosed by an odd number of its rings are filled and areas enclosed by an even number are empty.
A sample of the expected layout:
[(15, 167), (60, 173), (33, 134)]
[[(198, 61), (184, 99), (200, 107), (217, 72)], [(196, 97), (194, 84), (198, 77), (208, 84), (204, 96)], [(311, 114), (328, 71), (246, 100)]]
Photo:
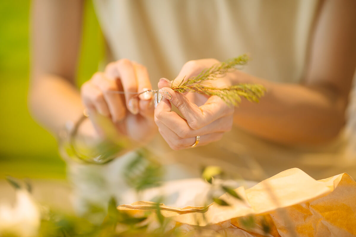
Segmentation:
[[(56, 139), (31, 118), (29, 84), (30, 1), (0, 2), (0, 179), (65, 177)], [(85, 2), (78, 86), (104, 58), (103, 37), (91, 1)]]

